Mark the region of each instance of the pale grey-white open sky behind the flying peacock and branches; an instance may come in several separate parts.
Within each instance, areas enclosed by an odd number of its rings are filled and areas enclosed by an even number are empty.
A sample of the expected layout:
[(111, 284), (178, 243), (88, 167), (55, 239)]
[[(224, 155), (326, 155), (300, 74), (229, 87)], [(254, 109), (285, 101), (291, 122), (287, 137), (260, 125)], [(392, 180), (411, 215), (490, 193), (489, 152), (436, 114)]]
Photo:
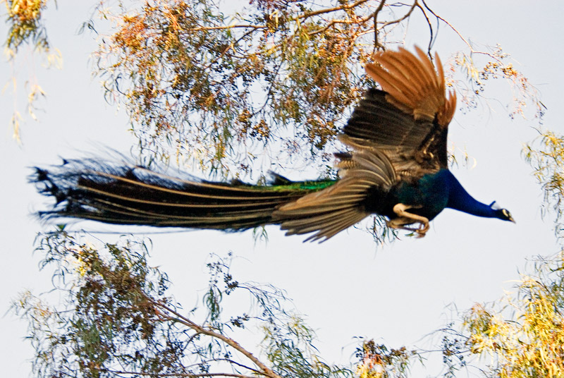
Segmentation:
[[(60, 157), (80, 157), (100, 147), (128, 153), (135, 140), (128, 133), (123, 109), (106, 104), (96, 78), (90, 74), (89, 54), (95, 40), (77, 35), (90, 14), (87, 1), (57, 1), (58, 10), (47, 13), (47, 28), (54, 47), (63, 55), (62, 70), (44, 70), (37, 57), (23, 54), (15, 65), (0, 61), (0, 83), (11, 73), (29, 77), (32, 66), (47, 93), (38, 111), (39, 121), (22, 125), (22, 143), (13, 140), (8, 125), (14, 98), (25, 104), (23, 88), (16, 95), (6, 87), (0, 97), (4, 130), (0, 154), (0, 233), (4, 241), (0, 264), (0, 363), (6, 377), (30, 374), (32, 350), (23, 339), (26, 324), (8, 312), (11, 300), (30, 289), (51, 288), (49, 269), (39, 272), (40, 255), (33, 253), (39, 231), (49, 230), (32, 217), (45, 200), (27, 183), (31, 166), (57, 164)], [(564, 4), (543, 1), (439, 1), (427, 4), (455, 25), (461, 35), (477, 44), (501, 44), (541, 92), (547, 107), (544, 126), (563, 132), (560, 125), (560, 68), (564, 30)], [(541, 5), (539, 5), (541, 4)], [(410, 32), (412, 30), (412, 32)], [(406, 33), (407, 46), (424, 44), (414, 21)], [(7, 28), (0, 24), (0, 35)], [(463, 42), (442, 26), (434, 48), (443, 61), (464, 49)], [(257, 242), (250, 232), (186, 231), (150, 234), (151, 264), (159, 266), (173, 282), (176, 298), (189, 308), (207, 287), (209, 252), (238, 256), (233, 273), (239, 281), (257, 281), (283, 288), (309, 326), (317, 331), (319, 351), (329, 362), (347, 362), (355, 348), (355, 336), (375, 339), (391, 347), (431, 347), (429, 332), (441, 328), (459, 310), (473, 303), (501, 297), (525, 271), (527, 259), (557, 251), (551, 219), (541, 217), (542, 194), (522, 159), (524, 143), (532, 141), (537, 121), (510, 120), (501, 105), (508, 87), (495, 85), (494, 106), (485, 105), (470, 114), (455, 114), (450, 142), (465, 148), (475, 159), (470, 167), (454, 166), (453, 173), (478, 200), (497, 200), (513, 214), (517, 224), (481, 219), (447, 209), (431, 222), (422, 239), (401, 236), (379, 247), (364, 231), (351, 228), (326, 243), (302, 243), (300, 236), (285, 237), (269, 227), (269, 242)], [(511, 94), (509, 94), (510, 96)], [(499, 97), (497, 97), (499, 96)], [(498, 104), (496, 99), (499, 99)], [(291, 172), (278, 172), (281, 174)], [(97, 231), (113, 231), (98, 224), (81, 224)], [(123, 231), (123, 228), (121, 229)], [(128, 232), (127, 229), (123, 232)], [(104, 236), (115, 240), (117, 236)], [(188, 290), (186, 288), (189, 288)], [(253, 349), (253, 346), (250, 346)], [(429, 371), (424, 374), (436, 374)]]

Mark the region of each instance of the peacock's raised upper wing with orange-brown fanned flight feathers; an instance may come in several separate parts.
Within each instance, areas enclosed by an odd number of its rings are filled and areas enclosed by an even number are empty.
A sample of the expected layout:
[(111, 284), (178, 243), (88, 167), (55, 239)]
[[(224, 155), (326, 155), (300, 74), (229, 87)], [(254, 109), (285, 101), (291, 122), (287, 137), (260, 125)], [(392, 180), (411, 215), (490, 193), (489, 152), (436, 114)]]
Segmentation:
[(396, 170), (446, 168), (448, 123), (456, 96), (446, 97), (441, 60), (415, 47), (417, 56), (400, 48), (379, 51), (367, 64), (382, 90), (369, 90), (353, 112), (341, 140), (357, 148), (386, 151)]

